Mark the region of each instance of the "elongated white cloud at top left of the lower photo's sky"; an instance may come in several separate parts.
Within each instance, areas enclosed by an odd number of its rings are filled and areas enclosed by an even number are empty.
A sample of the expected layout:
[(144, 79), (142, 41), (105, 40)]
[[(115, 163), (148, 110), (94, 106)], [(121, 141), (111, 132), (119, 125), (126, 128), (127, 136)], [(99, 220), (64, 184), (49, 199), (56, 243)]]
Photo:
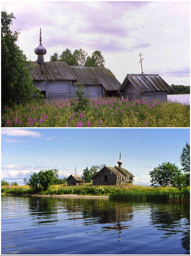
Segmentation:
[(1, 135), (4, 136), (29, 136), (29, 137), (35, 137), (39, 138), (41, 134), (39, 132), (34, 132), (30, 129), (10, 129), (10, 128), (1, 128)]

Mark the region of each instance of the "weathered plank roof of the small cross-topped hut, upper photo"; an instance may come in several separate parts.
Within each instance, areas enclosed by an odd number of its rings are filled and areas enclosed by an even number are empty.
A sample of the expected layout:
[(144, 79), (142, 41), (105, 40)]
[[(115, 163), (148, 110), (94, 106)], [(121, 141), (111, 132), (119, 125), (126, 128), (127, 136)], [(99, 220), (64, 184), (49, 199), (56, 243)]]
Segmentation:
[(157, 92), (157, 91), (173, 91), (172, 87), (169, 86), (159, 75), (135, 75), (128, 74), (121, 84), (118, 93), (126, 84), (131, 83), (141, 93)]

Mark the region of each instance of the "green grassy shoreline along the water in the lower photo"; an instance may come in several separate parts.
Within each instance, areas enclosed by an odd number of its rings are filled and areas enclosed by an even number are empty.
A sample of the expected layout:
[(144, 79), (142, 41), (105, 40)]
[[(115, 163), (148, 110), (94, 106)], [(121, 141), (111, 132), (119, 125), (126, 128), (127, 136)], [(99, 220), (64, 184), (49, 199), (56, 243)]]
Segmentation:
[(67, 185), (52, 185), (47, 191), (34, 192), (29, 186), (2, 186), (2, 194), (12, 195), (38, 195), (38, 196), (91, 196), (109, 197), (110, 199), (130, 200), (174, 200), (190, 202), (190, 187), (184, 189), (157, 187), (143, 185), (91, 185), (82, 184), (77, 187)]

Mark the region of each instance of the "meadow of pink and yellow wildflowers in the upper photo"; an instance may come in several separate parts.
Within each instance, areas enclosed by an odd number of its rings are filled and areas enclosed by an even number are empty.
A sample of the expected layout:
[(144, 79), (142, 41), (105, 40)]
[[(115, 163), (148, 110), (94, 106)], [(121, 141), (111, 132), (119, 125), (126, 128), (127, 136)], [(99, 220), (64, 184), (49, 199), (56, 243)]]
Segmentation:
[(190, 127), (190, 105), (104, 97), (31, 101), (2, 111), (1, 127)]

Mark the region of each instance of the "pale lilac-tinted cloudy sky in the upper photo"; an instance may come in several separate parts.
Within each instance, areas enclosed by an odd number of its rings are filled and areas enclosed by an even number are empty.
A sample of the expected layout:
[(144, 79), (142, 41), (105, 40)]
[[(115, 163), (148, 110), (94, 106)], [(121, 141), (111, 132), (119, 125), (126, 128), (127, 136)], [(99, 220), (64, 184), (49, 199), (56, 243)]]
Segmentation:
[(1, 1), (13, 13), (17, 45), (28, 60), (47, 49), (45, 61), (69, 48), (89, 56), (100, 50), (122, 83), (126, 74), (159, 74), (169, 85), (190, 85), (190, 1)]

